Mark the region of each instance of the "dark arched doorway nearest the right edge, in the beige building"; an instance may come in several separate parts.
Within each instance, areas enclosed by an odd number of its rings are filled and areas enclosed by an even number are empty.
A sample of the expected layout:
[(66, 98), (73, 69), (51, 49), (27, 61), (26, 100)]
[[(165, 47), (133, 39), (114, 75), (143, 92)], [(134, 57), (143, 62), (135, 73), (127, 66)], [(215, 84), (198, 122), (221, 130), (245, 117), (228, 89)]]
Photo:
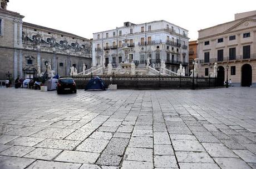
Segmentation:
[(250, 85), (252, 85), (252, 66), (249, 64), (244, 64), (242, 66), (241, 86)]

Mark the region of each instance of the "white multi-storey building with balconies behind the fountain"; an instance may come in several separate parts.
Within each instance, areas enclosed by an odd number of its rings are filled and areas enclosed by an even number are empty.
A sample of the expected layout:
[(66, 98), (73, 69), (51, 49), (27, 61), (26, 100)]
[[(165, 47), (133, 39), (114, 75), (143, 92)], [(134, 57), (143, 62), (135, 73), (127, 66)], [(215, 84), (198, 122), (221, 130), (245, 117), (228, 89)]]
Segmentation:
[(176, 71), (182, 64), (188, 73), (188, 30), (166, 21), (142, 24), (125, 22), (124, 26), (93, 33), (93, 66), (112, 63), (116, 66), (125, 61), (124, 39), (129, 39), (129, 62), (138, 68), (145, 67), (146, 59), (160, 68), (161, 60), (166, 68)]

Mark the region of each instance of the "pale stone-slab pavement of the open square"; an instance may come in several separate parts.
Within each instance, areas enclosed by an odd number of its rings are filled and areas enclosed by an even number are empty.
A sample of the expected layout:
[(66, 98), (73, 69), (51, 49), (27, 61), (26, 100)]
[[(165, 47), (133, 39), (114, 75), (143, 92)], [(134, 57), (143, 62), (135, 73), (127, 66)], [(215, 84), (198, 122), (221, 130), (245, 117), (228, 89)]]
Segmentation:
[(255, 100), (255, 88), (0, 88), (0, 168), (252, 169)]

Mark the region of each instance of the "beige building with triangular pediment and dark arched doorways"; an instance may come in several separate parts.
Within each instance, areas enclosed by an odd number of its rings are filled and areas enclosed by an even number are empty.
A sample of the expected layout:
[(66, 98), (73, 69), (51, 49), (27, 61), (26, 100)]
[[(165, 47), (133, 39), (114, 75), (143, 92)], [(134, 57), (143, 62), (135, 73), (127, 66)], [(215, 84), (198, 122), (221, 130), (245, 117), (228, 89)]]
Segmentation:
[(198, 32), (200, 76), (209, 76), (216, 62), (221, 81), (256, 86), (256, 11), (237, 13), (234, 21)]

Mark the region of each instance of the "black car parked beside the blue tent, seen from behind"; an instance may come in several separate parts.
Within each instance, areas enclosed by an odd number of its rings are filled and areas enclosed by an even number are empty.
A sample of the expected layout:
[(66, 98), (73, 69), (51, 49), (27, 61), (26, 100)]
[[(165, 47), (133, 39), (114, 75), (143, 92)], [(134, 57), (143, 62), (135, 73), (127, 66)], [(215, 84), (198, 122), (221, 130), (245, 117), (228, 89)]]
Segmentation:
[(76, 93), (76, 83), (72, 78), (60, 78), (57, 83), (57, 93)]

